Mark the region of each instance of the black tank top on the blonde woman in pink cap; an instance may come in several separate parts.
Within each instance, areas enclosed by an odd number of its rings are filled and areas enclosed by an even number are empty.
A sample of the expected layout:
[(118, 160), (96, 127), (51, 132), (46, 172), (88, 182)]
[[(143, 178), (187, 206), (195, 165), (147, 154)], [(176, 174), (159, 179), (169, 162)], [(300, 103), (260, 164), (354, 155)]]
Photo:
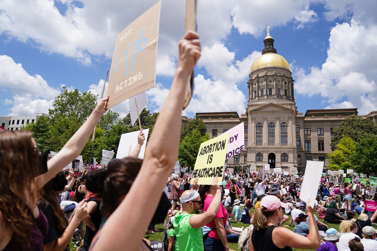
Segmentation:
[(275, 226), (270, 226), (267, 229), (253, 230), (251, 236), (251, 243), (253, 243), (255, 251), (292, 251), (292, 248), (285, 246), (285, 248), (278, 248), (272, 241), (272, 231), (274, 231)]

